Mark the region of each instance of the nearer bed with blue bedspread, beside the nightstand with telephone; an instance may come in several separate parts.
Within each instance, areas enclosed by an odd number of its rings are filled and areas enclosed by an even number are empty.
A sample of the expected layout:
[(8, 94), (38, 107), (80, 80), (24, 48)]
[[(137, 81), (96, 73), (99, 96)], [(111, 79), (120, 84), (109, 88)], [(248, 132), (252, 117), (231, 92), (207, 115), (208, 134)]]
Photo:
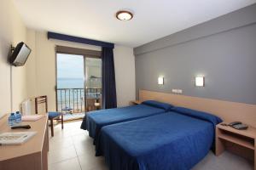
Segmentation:
[(214, 143), (218, 116), (183, 107), (102, 127), (96, 156), (110, 170), (189, 170)]

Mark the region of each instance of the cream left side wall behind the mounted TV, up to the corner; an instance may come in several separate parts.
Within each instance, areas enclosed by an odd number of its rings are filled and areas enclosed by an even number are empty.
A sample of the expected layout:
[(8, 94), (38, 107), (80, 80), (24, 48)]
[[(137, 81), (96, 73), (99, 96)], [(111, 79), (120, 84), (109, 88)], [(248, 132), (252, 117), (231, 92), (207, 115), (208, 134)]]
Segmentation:
[[(10, 65), (7, 62), (10, 45), (26, 42), (26, 26), (20, 19), (12, 1), (2, 0), (0, 5), (0, 117), (11, 111)], [(26, 66), (12, 67), (13, 111), (26, 99)]]

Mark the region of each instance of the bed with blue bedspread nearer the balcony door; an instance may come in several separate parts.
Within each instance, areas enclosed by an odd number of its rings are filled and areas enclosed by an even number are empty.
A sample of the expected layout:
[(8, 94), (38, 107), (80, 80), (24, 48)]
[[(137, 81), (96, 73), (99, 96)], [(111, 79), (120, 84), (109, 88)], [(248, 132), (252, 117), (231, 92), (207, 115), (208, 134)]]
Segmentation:
[(119, 122), (127, 122), (147, 116), (154, 116), (170, 111), (172, 105), (154, 100), (144, 101), (141, 105), (90, 111), (84, 116), (81, 128), (89, 131), (89, 136), (96, 142), (102, 127)]

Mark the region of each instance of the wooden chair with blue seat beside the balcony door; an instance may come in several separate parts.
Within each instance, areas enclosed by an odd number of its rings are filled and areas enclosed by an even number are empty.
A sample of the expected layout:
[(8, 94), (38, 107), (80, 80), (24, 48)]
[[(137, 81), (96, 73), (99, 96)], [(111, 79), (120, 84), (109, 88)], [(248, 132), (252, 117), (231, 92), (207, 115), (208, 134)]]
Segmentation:
[[(49, 111), (48, 112), (48, 104), (47, 104), (47, 96), (39, 96), (35, 98), (35, 106), (36, 106), (36, 114), (38, 114), (38, 106), (44, 104), (45, 111), (48, 113), (48, 120), (50, 121), (50, 133), (51, 136), (54, 136), (54, 120), (61, 120), (61, 128), (63, 129), (63, 114), (61, 112)], [(61, 117), (61, 118), (60, 118)]]

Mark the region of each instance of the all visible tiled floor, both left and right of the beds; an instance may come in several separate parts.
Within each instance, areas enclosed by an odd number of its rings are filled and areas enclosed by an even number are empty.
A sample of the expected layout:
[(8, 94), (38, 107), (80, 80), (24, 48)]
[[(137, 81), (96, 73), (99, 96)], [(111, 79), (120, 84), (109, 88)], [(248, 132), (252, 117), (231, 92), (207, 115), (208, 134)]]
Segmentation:
[[(70, 122), (55, 127), (55, 137), (49, 139), (49, 170), (108, 170), (104, 157), (96, 157), (92, 139), (80, 129), (81, 122)], [(50, 134), (50, 133), (49, 133)], [(193, 170), (253, 170), (252, 162), (224, 152), (212, 152)]]

